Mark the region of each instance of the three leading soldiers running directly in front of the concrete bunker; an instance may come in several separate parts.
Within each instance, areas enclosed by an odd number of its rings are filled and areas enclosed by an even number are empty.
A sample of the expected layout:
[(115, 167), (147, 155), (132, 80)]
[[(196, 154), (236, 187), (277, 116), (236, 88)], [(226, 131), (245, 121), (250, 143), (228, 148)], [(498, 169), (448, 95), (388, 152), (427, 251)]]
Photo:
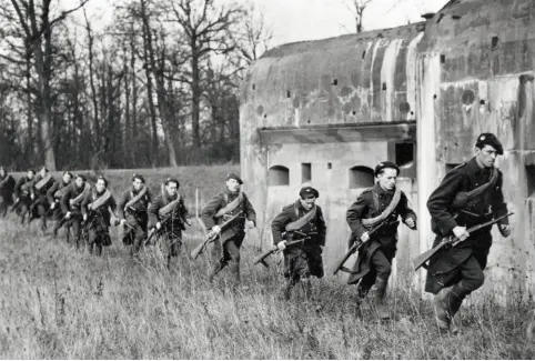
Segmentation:
[[(468, 233), (471, 227), (507, 214), (502, 192), (503, 176), (494, 167), (503, 147), (492, 133), (481, 134), (475, 144), (475, 157), (450, 171), (431, 194), (427, 208), (432, 230), (436, 234), (433, 247), (448, 237), (461, 242), (443, 248), (428, 261), (425, 291), (436, 294), (435, 321), (441, 332), (451, 329), (453, 318), (463, 300), (483, 285), (484, 269), (492, 245), (492, 225)], [(375, 168), (376, 183), (363, 191), (346, 212), (351, 229), (349, 247), (360, 245), (359, 257), (347, 283), (356, 284), (357, 304), (373, 293), (377, 317), (390, 318), (385, 305), (386, 285), (396, 253), (398, 219), (410, 229), (416, 229), (416, 214), (406, 195), (395, 184), (400, 174), (393, 162), (382, 162)], [(325, 245), (325, 221), (315, 204), (317, 190), (306, 187), (300, 199), (285, 207), (272, 222), (273, 242), (284, 252), (284, 293), (301, 281), (310, 289), (311, 275), (322, 278), (322, 248)], [(503, 237), (511, 234), (507, 218), (498, 223)], [(299, 247), (286, 248), (293, 239), (306, 237)], [(444, 290), (443, 294), (440, 292)]]

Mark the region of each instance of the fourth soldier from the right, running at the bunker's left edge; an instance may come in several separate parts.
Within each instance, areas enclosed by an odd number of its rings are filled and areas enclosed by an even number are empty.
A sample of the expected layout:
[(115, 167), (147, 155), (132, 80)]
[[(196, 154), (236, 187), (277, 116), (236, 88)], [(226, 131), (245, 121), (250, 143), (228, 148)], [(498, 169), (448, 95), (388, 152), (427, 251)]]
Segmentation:
[[(256, 224), (256, 212), (245, 193), (240, 190), (242, 184), (240, 176), (228, 174), (226, 189), (215, 195), (201, 211), (206, 229), (220, 234), (212, 243), (214, 269), (210, 274), (210, 281), (213, 281), (215, 274), (229, 264), (235, 284), (240, 283), (240, 247), (245, 238), (244, 227), (246, 223), (246, 227), (252, 229)], [(228, 224), (224, 230), (221, 230), (220, 224), (239, 212), (242, 214)]]

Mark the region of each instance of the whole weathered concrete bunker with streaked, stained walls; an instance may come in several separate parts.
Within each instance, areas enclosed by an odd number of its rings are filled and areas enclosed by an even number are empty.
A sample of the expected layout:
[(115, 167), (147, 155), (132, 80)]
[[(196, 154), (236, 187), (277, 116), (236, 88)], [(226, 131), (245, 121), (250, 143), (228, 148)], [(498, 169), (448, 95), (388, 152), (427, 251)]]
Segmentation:
[[(534, 17), (533, 0), (453, 0), (425, 24), (269, 51), (251, 68), (240, 109), (242, 173), (265, 242), (273, 215), (303, 185), (301, 163), (311, 163), (331, 268), (345, 249), (345, 210), (362, 191), (349, 187), (349, 170), (394, 159), (396, 142), (416, 140), (400, 187), (418, 212), (418, 237), (402, 231), (394, 281), (421, 289), (425, 271), (411, 273), (410, 259), (434, 238), (426, 200), (473, 156), (477, 134), (494, 132), (515, 230), (494, 234), (486, 275), (501, 282), (476, 294), (535, 291)], [(269, 187), (273, 166), (290, 169), (290, 184)]]

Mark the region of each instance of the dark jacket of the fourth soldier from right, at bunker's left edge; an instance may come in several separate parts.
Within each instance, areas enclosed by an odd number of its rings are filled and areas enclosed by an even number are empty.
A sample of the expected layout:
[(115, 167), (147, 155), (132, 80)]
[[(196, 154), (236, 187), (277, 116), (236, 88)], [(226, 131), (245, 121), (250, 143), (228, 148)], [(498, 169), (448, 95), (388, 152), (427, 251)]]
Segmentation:
[(233, 217), (240, 211), (242, 215), (238, 217), (231, 224), (229, 224), (225, 230), (221, 233), (221, 237), (229, 239), (232, 237), (245, 237), (244, 224), (245, 219), (254, 222), (256, 224), (256, 212), (254, 211), (253, 204), (249, 201), (248, 195), (243, 193), (243, 201), (232, 211), (226, 213), (219, 219), (215, 218), (218, 211), (239, 197), (240, 193), (233, 193), (229, 189), (225, 189), (222, 193), (215, 195), (206, 207), (201, 211), (201, 218), (204, 225), (210, 230), (215, 224), (221, 224), (229, 217)]

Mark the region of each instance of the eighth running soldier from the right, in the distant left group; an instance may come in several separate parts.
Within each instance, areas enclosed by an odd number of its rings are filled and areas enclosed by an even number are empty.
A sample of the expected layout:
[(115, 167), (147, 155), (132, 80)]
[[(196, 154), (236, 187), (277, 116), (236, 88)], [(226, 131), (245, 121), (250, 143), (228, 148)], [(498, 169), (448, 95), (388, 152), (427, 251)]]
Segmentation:
[[(85, 176), (77, 174), (74, 182), (65, 188), (65, 192), (61, 197), (61, 211), (63, 215), (63, 222), (67, 228), (67, 242), (70, 239), (70, 231), (80, 241), (80, 231), (82, 222), (82, 202), (85, 197), (91, 192), (91, 187), (87, 182)], [(59, 222), (58, 222), (59, 223)], [(58, 232), (60, 224), (54, 227), (54, 235)], [(79, 243), (77, 244), (77, 248)]]

